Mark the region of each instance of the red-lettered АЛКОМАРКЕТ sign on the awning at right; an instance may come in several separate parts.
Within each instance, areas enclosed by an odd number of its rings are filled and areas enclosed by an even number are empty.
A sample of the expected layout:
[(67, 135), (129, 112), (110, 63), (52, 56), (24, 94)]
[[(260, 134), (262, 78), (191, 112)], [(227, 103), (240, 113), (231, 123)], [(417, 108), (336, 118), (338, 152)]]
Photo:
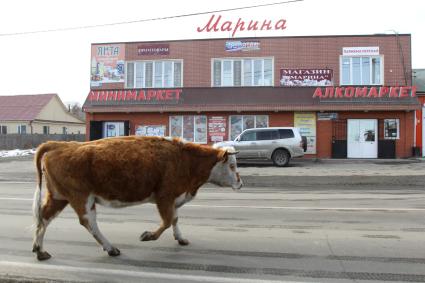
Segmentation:
[(339, 99), (339, 98), (405, 98), (415, 97), (416, 86), (372, 86), (372, 87), (318, 87), (313, 93), (313, 98)]

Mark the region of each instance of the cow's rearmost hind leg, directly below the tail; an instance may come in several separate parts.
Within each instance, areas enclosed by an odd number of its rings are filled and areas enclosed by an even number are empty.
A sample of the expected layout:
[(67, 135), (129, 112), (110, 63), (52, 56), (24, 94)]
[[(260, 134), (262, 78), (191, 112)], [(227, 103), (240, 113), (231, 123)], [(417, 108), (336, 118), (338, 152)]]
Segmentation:
[(32, 251), (37, 253), (38, 260), (46, 260), (51, 255), (43, 249), (44, 234), (46, 233), (47, 226), (68, 204), (66, 200), (54, 199), (50, 192), (47, 193), (46, 201), (40, 207), (38, 219), (36, 219), (36, 230), (34, 233), (34, 241)]

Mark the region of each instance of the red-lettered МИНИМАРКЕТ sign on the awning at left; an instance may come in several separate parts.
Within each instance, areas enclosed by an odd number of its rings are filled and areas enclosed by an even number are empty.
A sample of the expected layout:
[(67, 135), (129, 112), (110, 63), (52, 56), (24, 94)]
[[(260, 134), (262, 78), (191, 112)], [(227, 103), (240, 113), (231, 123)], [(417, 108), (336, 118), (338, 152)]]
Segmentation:
[(92, 90), (89, 102), (138, 101), (144, 104), (177, 103), (181, 89)]

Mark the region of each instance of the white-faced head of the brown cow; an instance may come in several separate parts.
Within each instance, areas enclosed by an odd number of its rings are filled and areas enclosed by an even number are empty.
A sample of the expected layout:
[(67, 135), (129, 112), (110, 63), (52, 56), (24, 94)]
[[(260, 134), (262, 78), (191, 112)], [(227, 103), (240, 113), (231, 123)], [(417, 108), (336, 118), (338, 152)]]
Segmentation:
[(242, 187), (242, 179), (236, 165), (236, 154), (233, 147), (220, 148), (217, 154), (218, 161), (208, 181), (220, 187), (231, 186), (233, 190), (239, 190)]

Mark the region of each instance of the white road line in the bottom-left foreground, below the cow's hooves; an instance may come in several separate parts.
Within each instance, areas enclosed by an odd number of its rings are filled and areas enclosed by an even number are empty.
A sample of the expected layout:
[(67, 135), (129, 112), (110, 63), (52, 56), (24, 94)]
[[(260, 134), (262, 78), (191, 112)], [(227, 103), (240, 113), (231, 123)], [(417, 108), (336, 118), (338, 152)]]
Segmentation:
[[(32, 268), (42, 271), (66, 271), (75, 272), (80, 274), (92, 273), (101, 275), (103, 278), (108, 278), (108, 275), (127, 276), (145, 279), (167, 279), (167, 280), (179, 280), (179, 281), (199, 281), (199, 282), (219, 282), (219, 283), (233, 283), (235, 281), (242, 283), (296, 283), (295, 281), (276, 281), (276, 280), (262, 280), (262, 279), (243, 279), (234, 277), (215, 277), (215, 276), (201, 276), (201, 275), (184, 275), (175, 273), (158, 273), (158, 272), (146, 272), (146, 271), (133, 271), (133, 270), (121, 270), (121, 269), (106, 269), (106, 268), (86, 268), (76, 267), (68, 265), (47, 265), (43, 263), (25, 263), (25, 262), (14, 262), (14, 261), (0, 261), (0, 266), (14, 267), (14, 268)], [(298, 281), (298, 283), (300, 283)]]

